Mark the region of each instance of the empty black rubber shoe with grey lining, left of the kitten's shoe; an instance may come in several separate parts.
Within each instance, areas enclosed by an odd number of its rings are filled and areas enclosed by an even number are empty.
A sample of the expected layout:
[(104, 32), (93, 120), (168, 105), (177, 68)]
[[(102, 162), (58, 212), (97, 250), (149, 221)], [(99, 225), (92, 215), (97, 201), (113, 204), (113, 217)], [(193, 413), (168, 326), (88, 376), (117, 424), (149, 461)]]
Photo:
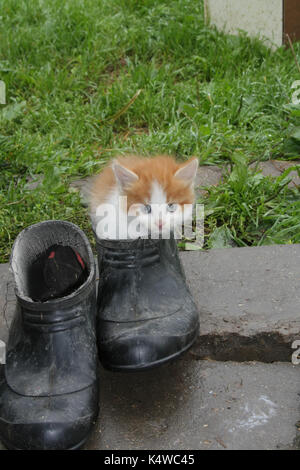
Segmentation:
[[(87, 277), (69, 295), (36, 302), (28, 295), (32, 264), (52, 245), (71, 247), (85, 263)], [(89, 242), (69, 222), (42, 222), (19, 234), (11, 267), (17, 311), (0, 373), (0, 441), (10, 449), (79, 448), (98, 414), (95, 265)]]

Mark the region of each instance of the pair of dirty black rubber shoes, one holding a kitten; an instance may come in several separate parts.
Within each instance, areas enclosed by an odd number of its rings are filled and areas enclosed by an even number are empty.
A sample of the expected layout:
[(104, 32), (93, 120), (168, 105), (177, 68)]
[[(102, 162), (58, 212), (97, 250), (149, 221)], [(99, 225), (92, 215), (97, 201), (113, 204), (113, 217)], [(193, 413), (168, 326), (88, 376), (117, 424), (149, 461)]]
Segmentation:
[[(23, 230), (11, 256), (17, 308), (0, 373), (0, 441), (9, 449), (78, 449), (98, 415), (97, 359), (136, 371), (178, 357), (196, 339), (198, 313), (174, 239), (97, 239), (94, 256), (74, 224)], [(88, 268), (72, 294), (29, 296), (32, 262), (53, 244), (71, 246)]]

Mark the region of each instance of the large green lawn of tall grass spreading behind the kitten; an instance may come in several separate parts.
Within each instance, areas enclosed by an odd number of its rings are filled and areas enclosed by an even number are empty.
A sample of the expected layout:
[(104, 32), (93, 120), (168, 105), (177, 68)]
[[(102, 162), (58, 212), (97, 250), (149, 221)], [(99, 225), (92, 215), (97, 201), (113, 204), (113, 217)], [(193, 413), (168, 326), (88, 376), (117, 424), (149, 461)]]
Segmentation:
[(289, 107), (300, 78), (289, 50), (205, 26), (199, 0), (0, 7), (1, 262), (19, 231), (41, 220), (71, 220), (91, 235), (69, 183), (127, 151), (232, 165), (205, 199), (206, 247), (300, 241), (298, 189), (248, 167), (300, 153), (288, 140), (300, 120)]

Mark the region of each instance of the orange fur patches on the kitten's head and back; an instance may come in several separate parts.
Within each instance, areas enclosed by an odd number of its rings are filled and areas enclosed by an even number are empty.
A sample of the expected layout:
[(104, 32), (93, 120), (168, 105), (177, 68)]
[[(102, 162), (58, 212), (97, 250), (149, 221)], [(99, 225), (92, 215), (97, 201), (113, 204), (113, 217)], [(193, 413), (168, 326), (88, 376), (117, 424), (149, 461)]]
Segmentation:
[[(179, 168), (188, 162), (178, 163), (172, 157), (158, 155), (152, 158), (127, 156), (117, 159), (120, 165), (133, 171), (139, 179), (124, 191), (127, 196), (128, 208), (132, 204), (149, 202), (153, 181), (157, 181), (166, 193), (167, 202), (180, 205), (194, 202), (194, 190), (186, 181), (174, 177)], [(108, 200), (112, 190), (116, 187), (116, 179), (111, 166), (106, 166), (97, 175), (91, 187), (91, 209), (95, 210), (99, 204)]]

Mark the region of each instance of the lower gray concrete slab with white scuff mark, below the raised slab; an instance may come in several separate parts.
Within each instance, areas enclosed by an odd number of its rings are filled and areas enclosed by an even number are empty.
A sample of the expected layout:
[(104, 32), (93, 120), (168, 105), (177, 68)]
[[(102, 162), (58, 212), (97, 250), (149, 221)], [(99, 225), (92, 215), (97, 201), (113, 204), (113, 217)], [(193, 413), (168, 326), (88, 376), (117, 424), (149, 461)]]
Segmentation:
[(156, 370), (100, 378), (102, 408), (86, 449), (298, 447), (300, 366), (187, 354)]

